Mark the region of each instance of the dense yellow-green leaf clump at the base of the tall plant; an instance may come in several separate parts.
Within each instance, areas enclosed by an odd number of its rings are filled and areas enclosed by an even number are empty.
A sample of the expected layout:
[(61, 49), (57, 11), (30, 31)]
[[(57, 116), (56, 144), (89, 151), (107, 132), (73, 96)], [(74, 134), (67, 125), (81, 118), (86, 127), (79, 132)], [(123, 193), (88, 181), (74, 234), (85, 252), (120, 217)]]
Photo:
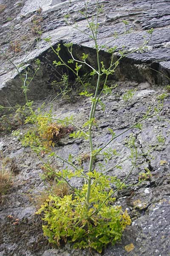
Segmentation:
[[(68, 170), (63, 172), (64, 177), (66, 173), (68, 177), (75, 175)], [(77, 172), (77, 175), (81, 174)], [(71, 195), (49, 195), (37, 214), (43, 213), (45, 225), (42, 228), (49, 242), (58, 246), (62, 242), (70, 242), (74, 248), (90, 247), (101, 253), (107, 244), (121, 240), (122, 232), (131, 224), (131, 220), (127, 211), (123, 212), (120, 206), (114, 206), (115, 198), (107, 200), (113, 193), (110, 182), (115, 180), (117, 184), (119, 180), (95, 171), (88, 175), (94, 178), (90, 209), (85, 205), (88, 185), (84, 184), (81, 190), (75, 190)]]

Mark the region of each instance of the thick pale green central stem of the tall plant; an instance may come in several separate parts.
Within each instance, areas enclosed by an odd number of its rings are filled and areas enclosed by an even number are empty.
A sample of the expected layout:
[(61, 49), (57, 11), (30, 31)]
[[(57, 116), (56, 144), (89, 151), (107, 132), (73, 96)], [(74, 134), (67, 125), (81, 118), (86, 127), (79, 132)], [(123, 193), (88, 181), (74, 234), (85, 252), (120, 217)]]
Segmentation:
[[(97, 46), (96, 39), (95, 39), (95, 45), (96, 45), (96, 53), (97, 53), (98, 79), (97, 79), (96, 91), (95, 91), (95, 95), (94, 95), (94, 101), (92, 102), (92, 105), (91, 105), (91, 112), (90, 112), (90, 116), (89, 116), (89, 126), (88, 126), (89, 143), (90, 143), (90, 150), (91, 150), (90, 163), (89, 163), (89, 169), (88, 169), (89, 172), (92, 172), (93, 162), (94, 162), (94, 154), (93, 154), (94, 148), (93, 148), (93, 140), (92, 140), (92, 134), (91, 134), (91, 128), (92, 128), (92, 125), (93, 125), (92, 118), (95, 115), (96, 98), (97, 98), (97, 94), (98, 94), (98, 90), (99, 90), (100, 77), (101, 77), (100, 61), (99, 61), (99, 49), (98, 49), (98, 46)], [(89, 209), (89, 205), (90, 205), (90, 202), (89, 202), (90, 195), (91, 195), (91, 177), (88, 177), (88, 191), (87, 191), (87, 194), (86, 194), (86, 201), (85, 201), (87, 210)]]

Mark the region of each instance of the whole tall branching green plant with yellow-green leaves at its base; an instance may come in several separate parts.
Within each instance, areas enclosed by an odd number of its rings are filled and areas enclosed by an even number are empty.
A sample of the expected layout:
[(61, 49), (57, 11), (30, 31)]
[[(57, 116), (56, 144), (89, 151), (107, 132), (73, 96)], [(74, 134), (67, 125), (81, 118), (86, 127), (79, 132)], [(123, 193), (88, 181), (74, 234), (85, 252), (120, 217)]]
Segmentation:
[[(68, 52), (71, 55), (71, 58), (67, 62), (64, 61), (60, 55), (60, 44), (58, 44), (57, 49), (54, 49), (54, 47), (51, 45), (52, 50), (58, 58), (57, 61), (54, 61), (54, 65), (56, 67), (65, 66), (67, 69), (71, 70), (84, 88), (80, 95), (88, 97), (91, 100), (91, 110), (88, 116), (88, 121), (82, 125), (82, 128), (80, 128), (72, 118), (59, 119), (51, 116), (37, 116), (34, 114), (34, 116), (27, 118), (26, 122), (30, 122), (30, 120), (32, 120), (31, 122), (34, 124), (38, 123), (36, 136), (40, 135), (38, 135), (38, 131), (41, 131), (41, 125), (43, 123), (40, 122), (40, 120), (48, 119), (49, 125), (51, 125), (51, 122), (54, 122), (55, 120), (55, 122), (60, 122), (62, 125), (74, 126), (77, 131), (72, 132), (70, 136), (74, 138), (83, 137), (85, 140), (88, 140), (90, 160), (88, 171), (85, 172), (81, 165), (77, 166), (73, 163), (73, 157), (71, 154), (69, 155), (68, 160), (66, 160), (56, 154), (52, 149), (44, 147), (41, 143), (40, 136), (36, 141), (33, 138), (35, 143), (31, 146), (35, 151), (37, 151), (37, 153), (45, 151), (46, 153), (49, 153), (49, 157), (59, 158), (70, 166), (70, 169), (67, 167), (62, 171), (55, 172), (57, 183), (67, 183), (67, 185), (70, 187), (70, 195), (61, 196), (51, 194), (49, 198), (45, 200), (44, 205), (42, 205), (37, 213), (43, 214), (45, 224), (42, 226), (42, 228), (45, 236), (48, 236), (50, 242), (60, 245), (62, 242), (68, 241), (74, 243), (74, 247), (76, 248), (90, 247), (94, 248), (98, 252), (102, 252), (102, 248), (108, 243), (111, 242), (114, 244), (116, 241), (119, 241), (121, 239), (123, 230), (131, 223), (130, 216), (128, 215), (127, 211), (123, 212), (120, 206), (114, 205), (114, 196), (119, 189), (122, 189), (122, 187), (125, 186), (125, 181), (130, 176), (130, 173), (136, 168), (137, 159), (142, 154), (139, 155), (137, 152), (135, 138), (130, 137), (130, 140), (127, 143), (128, 147), (130, 148), (130, 155), (124, 160), (121, 160), (120, 163), (108, 169), (107, 166), (105, 166), (105, 169), (103, 166), (101, 166), (102, 171), (97, 172), (96, 169), (94, 169), (95, 159), (98, 155), (102, 155), (105, 162), (108, 163), (111, 157), (117, 154), (116, 150), (108, 148), (108, 145), (131, 128), (136, 127), (141, 129), (141, 122), (148, 117), (159, 113), (162, 108), (162, 104), (160, 102), (159, 108), (155, 109), (154, 113), (151, 111), (151, 109), (149, 109), (141, 120), (131, 125), (130, 128), (127, 128), (118, 135), (116, 135), (110, 128), (109, 131), (112, 136), (111, 140), (109, 140), (101, 148), (94, 147), (94, 134), (92, 128), (94, 125), (96, 125), (96, 107), (97, 105), (101, 105), (102, 109), (104, 110), (105, 104), (102, 102), (102, 99), (107, 95), (118, 96), (113, 92), (114, 87), (108, 86), (108, 78), (110, 75), (115, 73), (116, 67), (119, 65), (120, 60), (132, 53), (126, 51), (125, 49), (119, 51), (119, 57), (116, 58), (115, 61), (116, 47), (107, 49), (107, 51), (111, 54), (111, 62), (108, 68), (105, 67), (104, 62), (100, 59), (100, 50), (104, 47), (107, 48), (107, 46), (105, 45), (100, 47), (97, 40), (99, 15), (102, 12), (102, 8), (99, 7), (98, 1), (96, 1), (96, 9), (96, 17), (92, 16), (91, 19), (88, 18), (88, 5), (86, 3), (85, 12), (81, 12), (81, 14), (87, 20), (89, 32), (83, 32), (77, 25), (73, 27), (88, 35), (89, 38), (93, 39), (96, 50), (97, 68), (92, 67), (92, 65), (89, 64), (88, 54), (82, 53), (81, 59), (75, 58), (73, 53), (73, 44), (65, 44), (65, 47), (68, 49)], [(149, 39), (147, 40), (145, 38), (144, 44), (138, 50), (142, 50), (143, 47), (145, 47), (150, 41), (152, 32), (153, 30), (151, 29), (149, 31)], [(47, 38), (46, 41), (49, 41), (50, 43), (49, 38)], [(136, 50), (133, 52), (135, 51)], [(91, 69), (90, 75), (94, 76), (96, 79), (96, 88), (94, 93), (89, 92), (87, 84), (85, 84), (79, 75), (79, 71), (83, 65)], [(133, 92), (129, 91), (124, 96), (124, 99), (127, 99), (132, 95)], [(37, 122), (37, 120), (39, 120), (39, 122)], [(48, 122), (45, 122), (45, 124), (48, 124)], [(51, 126), (54, 127), (54, 125)], [(54, 130), (50, 131), (53, 134), (56, 132)], [(30, 145), (29, 137), (27, 137), (27, 140), (25, 137), (24, 143), (25, 145)], [(109, 175), (114, 168), (120, 168), (120, 164), (127, 159), (131, 159), (132, 167), (124, 180), (121, 181), (117, 177)], [(54, 170), (51, 169), (49, 164), (45, 162), (44, 164), (49, 172), (54, 173)], [(82, 178), (85, 180), (81, 189), (75, 189), (71, 185), (69, 180), (73, 177)]]

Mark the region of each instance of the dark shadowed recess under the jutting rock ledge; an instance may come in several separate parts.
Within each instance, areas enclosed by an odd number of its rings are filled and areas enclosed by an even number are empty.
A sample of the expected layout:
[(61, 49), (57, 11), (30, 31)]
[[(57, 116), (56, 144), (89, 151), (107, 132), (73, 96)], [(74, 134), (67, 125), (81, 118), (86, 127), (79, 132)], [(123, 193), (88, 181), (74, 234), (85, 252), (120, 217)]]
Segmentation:
[[(68, 59), (70, 58), (70, 55), (68, 53), (68, 50), (63, 45), (64, 41), (59, 41), (57, 44), (60, 44), (60, 55), (63, 58), (63, 60), (67, 63)], [(56, 49), (57, 44), (54, 45), (54, 49)], [(81, 59), (82, 53), (88, 54), (88, 64), (91, 64), (93, 67), (97, 69), (95, 49), (73, 44), (73, 54), (75, 58)], [(64, 73), (67, 73), (69, 75), (69, 79), (72, 81), (73, 86), (75, 86), (75, 76), (70, 70), (66, 69), (63, 66), (57, 68), (56, 70), (53, 66), (53, 61), (59, 60), (57, 59), (57, 55), (52, 51), (50, 47), (44, 52), (42, 52), (38, 56), (38, 58), (40, 58), (41, 67), (40, 71), (36, 74), (34, 80), (31, 82), (29, 86), (28, 97), (30, 100), (40, 99), (43, 96), (47, 95), (51, 88), (51, 82), (56, 79), (59, 80), (62, 74)], [(101, 50), (100, 58), (104, 62), (105, 68), (108, 68), (111, 55), (108, 52)], [(116, 61), (117, 59), (118, 55), (115, 54), (114, 60)], [(137, 81), (139, 83), (144, 81), (159, 84), (165, 83), (166, 79), (164, 76), (161, 75), (162, 71), (159, 72), (159, 70), (162, 70), (162, 67), (160, 67), (159, 63), (151, 63), (150, 61), (150, 63), (148, 62), (147, 64), (144, 64), (144, 68), (139, 68), (141, 64), (141, 61), (134, 60), (133, 58), (130, 58), (130, 56), (126, 57), (122, 59), (122, 61), (120, 61), (119, 66), (115, 70), (115, 73), (111, 75), (109, 79), (116, 81), (131, 80)], [(151, 67), (151, 69), (149, 67)], [(34, 72), (34, 60), (32, 60), (31, 63), (29, 63), (29, 68), (32, 70), (31, 72)], [(74, 64), (72, 64), (72, 68), (74, 69)], [(80, 75), (85, 75), (89, 72), (91, 72), (89, 67), (82, 66), (80, 70)], [(22, 71), (22, 73), (24, 73), (24, 70)], [(91, 84), (95, 84), (95, 79), (91, 78)], [(23, 90), (21, 89), (21, 87), (22, 82), (20, 81), (18, 74), (14, 75), (12, 79), (8, 79), (6, 83), (3, 83), (0, 90), (0, 102), (2, 102), (2, 105), (8, 106), (8, 102), (10, 102), (11, 105), (15, 105), (16, 103), (23, 104), (24, 97), (22, 92)]]

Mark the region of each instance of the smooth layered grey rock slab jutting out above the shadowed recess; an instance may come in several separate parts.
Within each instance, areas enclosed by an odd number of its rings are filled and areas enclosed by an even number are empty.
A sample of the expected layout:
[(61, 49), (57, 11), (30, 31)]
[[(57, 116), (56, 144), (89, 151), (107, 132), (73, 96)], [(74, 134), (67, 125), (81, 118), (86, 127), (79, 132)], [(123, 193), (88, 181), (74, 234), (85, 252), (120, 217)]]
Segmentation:
[[(71, 24), (77, 22), (79, 29), (88, 31), (85, 18), (79, 14), (79, 10), (84, 8), (84, 1), (53, 0), (47, 2), (37, 0), (34, 1), (34, 4), (32, 1), (22, 1), (22, 3), (11, 1), (9, 5), (8, 1), (1, 0), (1, 3), (5, 9), (0, 15), (2, 24), (0, 48), (17, 65), (23, 63), (32, 65), (36, 58), (42, 58), (43, 70), (35, 82), (38, 88), (32, 85), (29, 90), (32, 99), (34, 99), (32, 94), (35, 93), (35, 90), (38, 92), (40, 88), (38, 81), (41, 82), (43, 93), (46, 84), (50, 81), (49, 76), (51, 76), (51, 70), (45, 70), (47, 64), (51, 64), (51, 59), (47, 56), (47, 50), (50, 47), (47, 42), (43, 41), (44, 38), (51, 36), (52, 45), (65, 41), (73, 42), (78, 54), (84, 51), (89, 52), (91, 51), (89, 47), (94, 47), (94, 43), (89, 40), (88, 35), (81, 35), (81, 32), (65, 23), (65, 15), (70, 14), (71, 17), (68, 20)], [(144, 80), (161, 84), (167, 82), (166, 77), (156, 71), (160, 71), (166, 76), (170, 75), (169, 1), (145, 0), (139, 3), (139, 1), (127, 0), (118, 3), (116, 0), (100, 0), (99, 4), (104, 6), (103, 13), (99, 18), (101, 24), (99, 26), (99, 45), (117, 46), (118, 50), (122, 46), (127, 49), (136, 48), (143, 44), (144, 36), (148, 38), (147, 29), (154, 29), (147, 49), (143, 53), (136, 52), (128, 55), (120, 63), (116, 79), (127, 78), (138, 82)], [(89, 17), (94, 15), (95, 11), (95, 1), (90, 1)], [(128, 24), (125, 25), (122, 20), (127, 20)], [(115, 35), (119, 35), (118, 38)], [(94, 53), (91, 52), (93, 58)], [(105, 55), (105, 52), (101, 54), (105, 56), (104, 60), (107, 61), (108, 56)], [(43, 57), (46, 61), (43, 61)], [(0, 102), (2, 105), (8, 105), (8, 101), (11, 104), (22, 102), (21, 84), (17, 78), (16, 70), (4, 58), (1, 54)], [(13, 70), (12, 73), (11, 69)], [(13, 100), (10, 94), (13, 95)]]

